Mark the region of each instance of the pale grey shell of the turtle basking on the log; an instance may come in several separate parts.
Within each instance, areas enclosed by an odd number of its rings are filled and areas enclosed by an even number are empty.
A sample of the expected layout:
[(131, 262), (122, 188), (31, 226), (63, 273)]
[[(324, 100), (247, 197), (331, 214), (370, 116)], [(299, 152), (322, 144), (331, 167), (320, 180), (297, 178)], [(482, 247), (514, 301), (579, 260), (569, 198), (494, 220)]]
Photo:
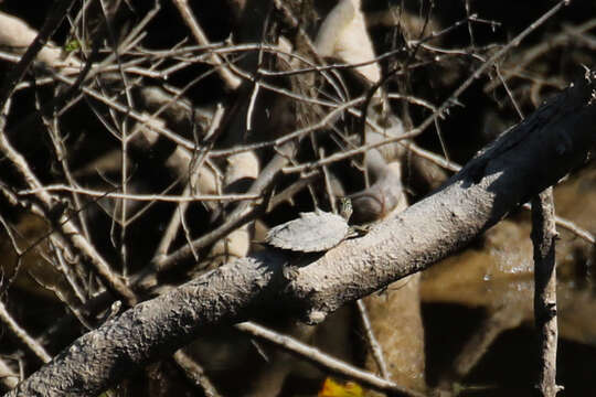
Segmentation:
[(266, 242), (274, 247), (299, 253), (318, 253), (333, 248), (349, 233), (348, 222), (324, 211), (301, 213), (296, 218), (269, 229)]

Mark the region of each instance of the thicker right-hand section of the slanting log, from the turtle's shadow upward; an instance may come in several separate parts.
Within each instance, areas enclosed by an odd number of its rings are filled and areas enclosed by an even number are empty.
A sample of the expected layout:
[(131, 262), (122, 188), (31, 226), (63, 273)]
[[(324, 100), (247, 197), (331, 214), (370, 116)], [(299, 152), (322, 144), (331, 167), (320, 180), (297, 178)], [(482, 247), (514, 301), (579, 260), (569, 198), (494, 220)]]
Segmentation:
[(288, 297), (308, 321), (322, 320), (344, 302), (424, 270), (555, 184), (585, 161), (596, 139), (594, 76), (587, 82), (503, 133), (432, 196), (301, 268)]

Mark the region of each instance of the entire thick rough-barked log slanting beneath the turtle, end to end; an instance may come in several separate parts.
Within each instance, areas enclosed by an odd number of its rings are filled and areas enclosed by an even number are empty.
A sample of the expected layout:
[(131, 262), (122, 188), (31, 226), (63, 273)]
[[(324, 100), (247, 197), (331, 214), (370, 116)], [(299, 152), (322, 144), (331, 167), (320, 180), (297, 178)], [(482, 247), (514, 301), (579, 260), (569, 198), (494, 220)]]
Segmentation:
[(286, 259), (275, 253), (222, 266), (83, 335), (8, 396), (97, 395), (205, 326), (238, 322), (274, 305), (321, 321), (342, 304), (429, 267), (585, 161), (596, 143), (590, 77), (499, 138), (437, 193), (298, 269), (291, 281), (283, 277)]

